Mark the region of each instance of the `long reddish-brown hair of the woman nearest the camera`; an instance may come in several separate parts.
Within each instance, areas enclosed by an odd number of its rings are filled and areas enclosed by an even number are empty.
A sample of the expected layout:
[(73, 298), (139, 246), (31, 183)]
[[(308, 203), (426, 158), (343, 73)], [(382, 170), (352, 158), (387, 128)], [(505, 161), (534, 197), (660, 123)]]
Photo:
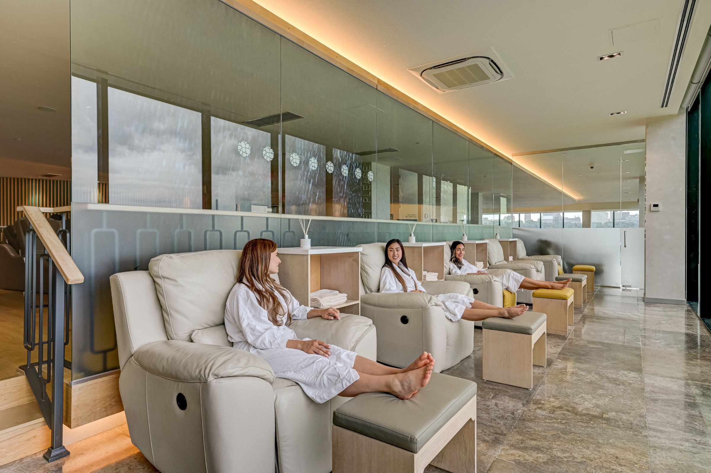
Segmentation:
[(282, 325), (281, 317), (287, 316), (287, 325), (292, 323), (292, 315), (287, 307), (284, 307), (277, 298), (277, 292), (281, 294), (287, 304), (291, 297), (284, 286), (277, 284), (269, 276), (269, 261), (272, 253), (277, 250), (277, 243), (266, 238), (255, 238), (250, 240), (242, 250), (240, 269), (237, 270), (237, 282), (250, 288), (257, 296), (262, 309), (267, 311), (269, 321), (272, 324)]

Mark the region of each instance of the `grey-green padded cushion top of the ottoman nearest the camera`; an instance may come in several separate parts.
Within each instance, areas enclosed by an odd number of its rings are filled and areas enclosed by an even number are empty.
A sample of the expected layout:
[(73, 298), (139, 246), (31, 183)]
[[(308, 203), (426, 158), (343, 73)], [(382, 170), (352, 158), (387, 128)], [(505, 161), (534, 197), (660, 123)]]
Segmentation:
[(429, 384), (408, 400), (365, 393), (333, 411), (333, 425), (417, 453), (476, 395), (476, 383), (432, 373)]

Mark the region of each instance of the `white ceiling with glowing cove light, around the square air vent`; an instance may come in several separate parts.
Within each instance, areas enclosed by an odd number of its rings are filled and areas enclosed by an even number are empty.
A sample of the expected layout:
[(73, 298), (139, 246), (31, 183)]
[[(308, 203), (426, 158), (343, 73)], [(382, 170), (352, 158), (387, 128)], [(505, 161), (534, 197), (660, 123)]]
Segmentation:
[[(697, 1), (661, 109), (682, 0), (255, 1), (509, 156), (643, 139), (646, 117), (678, 112), (711, 23), (711, 2)], [(656, 36), (611, 44), (611, 29), (656, 18)], [(513, 79), (440, 94), (407, 70), (486, 47)]]

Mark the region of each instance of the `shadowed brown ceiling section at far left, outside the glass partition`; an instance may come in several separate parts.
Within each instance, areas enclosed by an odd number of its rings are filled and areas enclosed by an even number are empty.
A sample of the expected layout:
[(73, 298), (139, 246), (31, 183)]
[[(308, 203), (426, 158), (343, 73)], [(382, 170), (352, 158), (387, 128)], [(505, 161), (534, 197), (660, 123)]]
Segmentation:
[(0, 11), (0, 174), (69, 179), (69, 0), (0, 0)]

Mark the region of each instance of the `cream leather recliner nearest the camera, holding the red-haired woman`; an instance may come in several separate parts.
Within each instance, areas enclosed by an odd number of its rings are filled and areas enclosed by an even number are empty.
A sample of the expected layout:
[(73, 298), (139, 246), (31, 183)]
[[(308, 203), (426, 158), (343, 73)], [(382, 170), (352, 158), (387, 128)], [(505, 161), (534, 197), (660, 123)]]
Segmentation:
[[(328, 473), (332, 412), (347, 399), (314, 403), (262, 358), (232, 348), (224, 313), (241, 253), (161, 255), (149, 271), (111, 277), (131, 440), (164, 473)], [(342, 316), (292, 329), (375, 359), (370, 319)]]

